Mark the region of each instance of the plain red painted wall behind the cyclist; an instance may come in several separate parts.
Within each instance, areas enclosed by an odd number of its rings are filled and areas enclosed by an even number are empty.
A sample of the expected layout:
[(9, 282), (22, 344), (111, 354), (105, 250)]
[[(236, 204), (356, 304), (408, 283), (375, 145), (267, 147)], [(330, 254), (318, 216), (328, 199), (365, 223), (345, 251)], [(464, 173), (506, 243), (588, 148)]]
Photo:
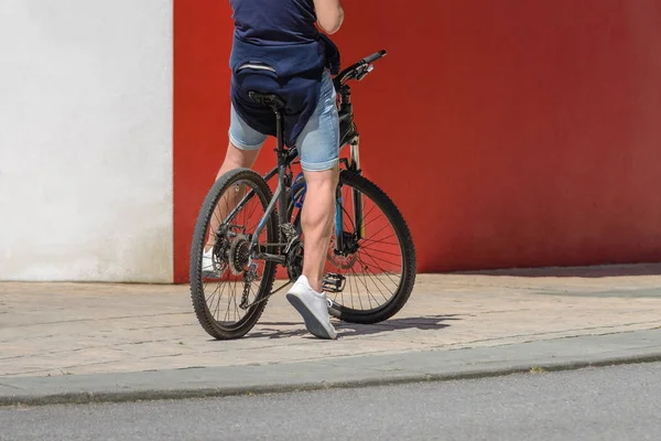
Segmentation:
[[(661, 0), (344, 1), (362, 163), (420, 271), (661, 260)], [(175, 275), (229, 122), (228, 2), (175, 2)], [(259, 168), (273, 162), (264, 150)]]

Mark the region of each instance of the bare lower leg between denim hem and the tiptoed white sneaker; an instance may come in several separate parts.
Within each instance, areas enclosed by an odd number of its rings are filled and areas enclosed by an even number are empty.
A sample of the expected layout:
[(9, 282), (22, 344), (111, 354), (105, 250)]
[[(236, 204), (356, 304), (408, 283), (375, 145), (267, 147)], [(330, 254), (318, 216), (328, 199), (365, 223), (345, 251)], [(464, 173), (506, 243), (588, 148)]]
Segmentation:
[(304, 174), (307, 190), (301, 215), (305, 235), (303, 275), (310, 281), (312, 289), (321, 292), (324, 263), (333, 235), (338, 168), (322, 172), (304, 172)]

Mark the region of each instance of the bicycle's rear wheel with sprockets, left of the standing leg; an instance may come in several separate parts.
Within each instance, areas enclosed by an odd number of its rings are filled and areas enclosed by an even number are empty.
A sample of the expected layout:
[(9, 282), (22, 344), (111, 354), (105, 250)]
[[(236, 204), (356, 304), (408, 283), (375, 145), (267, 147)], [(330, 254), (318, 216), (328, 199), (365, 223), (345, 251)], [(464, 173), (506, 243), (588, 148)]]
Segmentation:
[[(238, 169), (216, 181), (199, 211), (191, 248), (191, 299), (199, 324), (217, 340), (246, 335), (267, 305), (275, 263), (251, 260), (250, 243), (271, 198), (259, 174)], [(272, 213), (259, 244), (273, 252), (277, 241)]]

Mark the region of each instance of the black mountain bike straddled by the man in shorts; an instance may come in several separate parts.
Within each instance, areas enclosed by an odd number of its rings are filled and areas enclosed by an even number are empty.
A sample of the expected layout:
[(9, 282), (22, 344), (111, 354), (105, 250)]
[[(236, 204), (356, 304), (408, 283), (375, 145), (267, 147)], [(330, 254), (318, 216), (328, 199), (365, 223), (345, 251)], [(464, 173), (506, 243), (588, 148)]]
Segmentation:
[[(350, 80), (365, 78), (372, 72), (372, 63), (384, 55), (386, 51), (380, 51), (367, 56), (334, 78), (339, 97), (340, 146), (349, 146), (350, 151), (349, 158), (340, 158), (335, 232), (323, 284), (329, 314), (350, 323), (370, 324), (390, 319), (404, 306), (415, 282), (415, 249), (409, 227), (388, 195), (362, 175), (360, 140), (348, 85)], [(193, 308), (202, 327), (217, 340), (246, 335), (258, 322), (269, 298), (295, 281), (303, 269), (301, 208), (305, 180), (303, 173), (293, 175), (296, 148), (285, 148), (281, 111), (284, 103), (275, 95), (250, 92), (249, 96), (274, 112), (278, 164), (264, 176), (249, 169), (220, 176), (204, 200), (191, 247)], [(268, 182), (274, 176), (278, 176), (277, 187), (272, 193)], [(263, 214), (256, 213), (258, 208)], [(379, 214), (386, 222), (377, 222)], [(243, 222), (239, 224), (241, 217)], [(388, 227), (392, 234), (383, 236)], [(205, 252), (210, 257), (206, 258)], [(278, 266), (286, 270), (289, 280), (273, 290)], [(216, 283), (216, 288), (207, 293), (210, 283)], [(383, 289), (389, 283), (394, 289), (387, 297)], [(225, 294), (227, 308), (221, 310)], [(350, 297), (346, 299), (346, 294)]]

